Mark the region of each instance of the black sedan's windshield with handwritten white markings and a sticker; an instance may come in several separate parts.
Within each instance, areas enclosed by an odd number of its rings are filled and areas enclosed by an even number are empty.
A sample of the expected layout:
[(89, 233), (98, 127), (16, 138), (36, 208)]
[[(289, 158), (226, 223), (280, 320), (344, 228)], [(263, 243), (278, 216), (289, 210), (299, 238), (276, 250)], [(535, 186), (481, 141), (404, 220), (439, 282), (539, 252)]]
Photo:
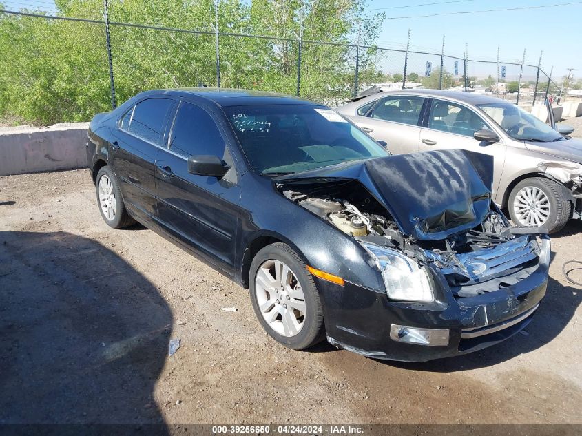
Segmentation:
[(251, 167), (260, 174), (292, 174), (389, 155), (324, 106), (256, 105), (224, 110)]

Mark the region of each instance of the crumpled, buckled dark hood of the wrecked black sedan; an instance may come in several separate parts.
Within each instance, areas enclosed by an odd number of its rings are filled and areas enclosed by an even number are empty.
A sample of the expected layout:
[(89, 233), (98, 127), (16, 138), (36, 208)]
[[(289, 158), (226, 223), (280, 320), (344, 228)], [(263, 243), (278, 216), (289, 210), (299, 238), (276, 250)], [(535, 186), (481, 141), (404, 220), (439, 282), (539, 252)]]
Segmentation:
[(485, 219), (492, 174), (492, 156), (455, 149), (371, 158), (273, 180), (284, 185), (358, 180), (406, 236), (439, 240)]

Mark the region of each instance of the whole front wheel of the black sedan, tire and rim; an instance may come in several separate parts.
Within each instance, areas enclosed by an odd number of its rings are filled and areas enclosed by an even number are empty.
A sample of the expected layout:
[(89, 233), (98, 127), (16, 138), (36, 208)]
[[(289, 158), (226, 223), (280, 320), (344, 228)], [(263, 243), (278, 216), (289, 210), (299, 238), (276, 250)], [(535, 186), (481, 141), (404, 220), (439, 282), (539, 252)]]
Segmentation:
[(308, 349), (324, 339), (318, 290), (289, 245), (277, 242), (256, 254), (249, 287), (255, 314), (271, 338), (294, 350)]

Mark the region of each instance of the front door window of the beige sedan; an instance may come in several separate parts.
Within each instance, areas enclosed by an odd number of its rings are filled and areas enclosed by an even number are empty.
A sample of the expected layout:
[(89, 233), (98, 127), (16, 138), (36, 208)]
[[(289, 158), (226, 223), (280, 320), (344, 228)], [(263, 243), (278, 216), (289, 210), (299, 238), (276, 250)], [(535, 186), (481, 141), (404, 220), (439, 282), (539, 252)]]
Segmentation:
[(442, 100), (433, 100), (430, 104), (427, 127), (471, 138), (477, 130), (488, 129), (481, 117), (468, 107)]

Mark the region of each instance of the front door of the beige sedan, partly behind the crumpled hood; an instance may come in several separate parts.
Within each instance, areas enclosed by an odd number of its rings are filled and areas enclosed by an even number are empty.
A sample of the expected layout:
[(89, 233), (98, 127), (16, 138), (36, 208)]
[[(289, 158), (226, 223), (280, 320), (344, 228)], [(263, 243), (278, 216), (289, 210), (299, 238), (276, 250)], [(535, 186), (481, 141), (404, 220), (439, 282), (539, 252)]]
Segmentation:
[[(506, 145), (485, 143), (473, 138), (477, 130), (494, 130), (472, 108), (450, 101), (431, 99), (425, 127), (420, 134), (419, 151), (465, 149), (493, 156), (493, 198), (499, 186), (506, 158)], [(494, 130), (495, 131), (495, 130)]]

